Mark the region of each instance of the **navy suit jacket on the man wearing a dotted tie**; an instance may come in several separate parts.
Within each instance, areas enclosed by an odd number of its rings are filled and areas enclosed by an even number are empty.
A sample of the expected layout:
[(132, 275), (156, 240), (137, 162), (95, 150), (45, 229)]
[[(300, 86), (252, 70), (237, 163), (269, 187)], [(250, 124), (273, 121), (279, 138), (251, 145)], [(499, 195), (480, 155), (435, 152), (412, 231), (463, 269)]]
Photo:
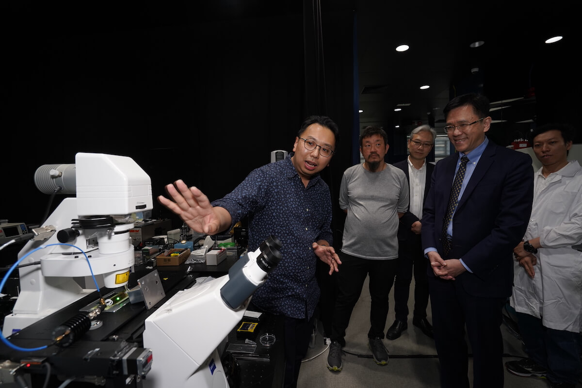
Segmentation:
[[(435, 165), (423, 210), (423, 249), (435, 247), (443, 259), (463, 259), (472, 273), (453, 281), (471, 296), (508, 297), (513, 248), (526, 232), (533, 202), (531, 158), (489, 141), (457, 205), (452, 248), (445, 257), (442, 225), (458, 159), (459, 154), (450, 155)], [(428, 275), (434, 277), (430, 267)]]

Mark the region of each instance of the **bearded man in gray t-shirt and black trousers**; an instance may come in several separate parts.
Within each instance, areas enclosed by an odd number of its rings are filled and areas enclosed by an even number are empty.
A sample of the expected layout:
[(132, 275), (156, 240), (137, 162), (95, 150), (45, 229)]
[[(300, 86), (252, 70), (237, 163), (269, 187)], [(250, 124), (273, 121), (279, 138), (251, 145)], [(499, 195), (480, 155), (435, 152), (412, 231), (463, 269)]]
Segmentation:
[(384, 162), (388, 136), (379, 127), (366, 127), (360, 136), (364, 163), (343, 173), (339, 206), (346, 212), (342, 268), (335, 274), (337, 297), (332, 318), (327, 366), (342, 370), (342, 347), (350, 316), (367, 276), (370, 276), (371, 327), (368, 345), (378, 365), (388, 362), (382, 342), (388, 294), (398, 269), (399, 218), (409, 205), (409, 186), (401, 169)]

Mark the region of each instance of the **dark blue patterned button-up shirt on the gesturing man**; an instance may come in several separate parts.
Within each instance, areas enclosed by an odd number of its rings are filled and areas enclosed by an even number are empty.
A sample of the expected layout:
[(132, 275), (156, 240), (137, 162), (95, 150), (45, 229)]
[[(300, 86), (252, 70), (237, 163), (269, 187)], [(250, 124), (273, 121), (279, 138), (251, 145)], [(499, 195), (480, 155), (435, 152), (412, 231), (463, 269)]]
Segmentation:
[(255, 291), (253, 303), (272, 314), (311, 318), (320, 297), (315, 280), (318, 258), (311, 244), (333, 244), (331, 196), (319, 175), (305, 187), (290, 156), (253, 170), (212, 205), (225, 208), (232, 225), (249, 215), (250, 251), (271, 235), (281, 240), (283, 258)]

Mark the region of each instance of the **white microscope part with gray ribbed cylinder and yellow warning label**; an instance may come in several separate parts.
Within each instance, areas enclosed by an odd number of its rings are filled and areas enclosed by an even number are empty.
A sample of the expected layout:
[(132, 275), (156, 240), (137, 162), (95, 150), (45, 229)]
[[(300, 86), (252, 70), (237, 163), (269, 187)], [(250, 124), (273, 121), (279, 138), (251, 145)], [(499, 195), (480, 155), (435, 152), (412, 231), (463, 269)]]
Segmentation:
[(59, 188), (76, 198), (65, 198), (44, 222), (53, 230), (48, 240), (33, 239), (19, 252), (19, 259), (29, 254), (21, 265), (40, 265), (19, 268), (20, 294), (5, 318), (5, 337), (95, 291), (73, 277), (99, 275), (101, 286), (124, 286), (134, 263), (129, 230), (153, 207), (150, 177), (127, 156), (80, 152), (74, 164), (38, 168), (35, 183), (46, 194)]

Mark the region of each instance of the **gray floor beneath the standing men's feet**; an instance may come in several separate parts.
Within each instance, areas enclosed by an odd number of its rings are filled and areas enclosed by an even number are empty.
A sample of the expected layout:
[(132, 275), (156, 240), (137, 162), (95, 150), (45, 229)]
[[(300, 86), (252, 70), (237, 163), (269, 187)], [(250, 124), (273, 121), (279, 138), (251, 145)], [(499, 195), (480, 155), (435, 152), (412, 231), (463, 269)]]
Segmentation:
[[(364, 284), (360, 300), (354, 308), (350, 325), (346, 331), (346, 351), (343, 358), (342, 372), (330, 372), (325, 365), (328, 350), (324, 344), (321, 327), (318, 328), (317, 341), (313, 348), (310, 348), (306, 359), (301, 365), (299, 373), (300, 388), (342, 388), (342, 387), (439, 387), (439, 362), (434, 341), (425, 336), (419, 329), (412, 325), (409, 317), (409, 328), (402, 336), (396, 340), (384, 340), (384, 344), (389, 351), (388, 365), (376, 365), (371, 358), (370, 350), (367, 346), (367, 333), (370, 316), (370, 294), (368, 284)], [(412, 285), (411, 287), (414, 287)], [(411, 290), (412, 291), (412, 290)], [(411, 292), (412, 296), (413, 293)], [(412, 299), (412, 298), (411, 298)], [(393, 298), (391, 296), (391, 304)], [(410, 311), (412, 311), (412, 301), (409, 301)], [(428, 308), (428, 319), (430, 316), (430, 305)], [(386, 329), (394, 321), (394, 312), (388, 314)], [(321, 326), (321, 325), (318, 325)], [(514, 357), (506, 357), (505, 361), (520, 359), (525, 357), (521, 342), (509, 330), (502, 326), (504, 339), (504, 353)], [(471, 361), (470, 361), (471, 362)], [(472, 373), (471, 365), (469, 371)], [(471, 387), (473, 383), (471, 382)], [(548, 380), (537, 378), (522, 378), (505, 372), (506, 388), (538, 388), (549, 387)], [(578, 384), (577, 388), (582, 388)]]

